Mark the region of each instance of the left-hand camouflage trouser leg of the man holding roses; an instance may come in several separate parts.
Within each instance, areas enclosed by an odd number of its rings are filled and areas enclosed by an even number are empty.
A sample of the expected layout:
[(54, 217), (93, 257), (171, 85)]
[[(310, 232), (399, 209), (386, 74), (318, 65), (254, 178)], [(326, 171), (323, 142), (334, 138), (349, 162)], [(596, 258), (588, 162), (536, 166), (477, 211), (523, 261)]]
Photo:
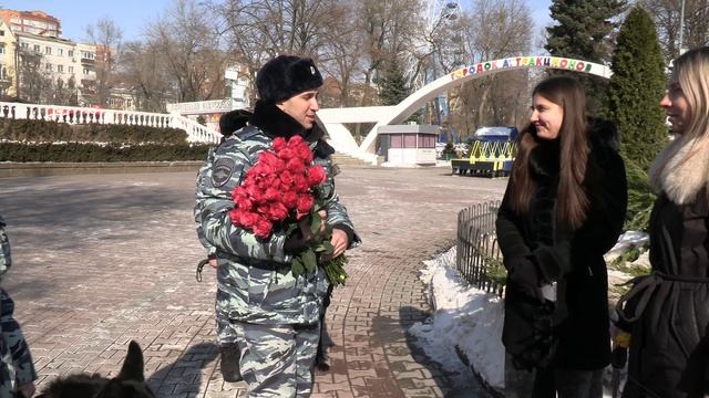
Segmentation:
[[(249, 398), (294, 398), (297, 392), (297, 332), (291, 325), (257, 325), (232, 321)], [(315, 353), (315, 348), (314, 348)], [(315, 360), (315, 354), (312, 356)]]

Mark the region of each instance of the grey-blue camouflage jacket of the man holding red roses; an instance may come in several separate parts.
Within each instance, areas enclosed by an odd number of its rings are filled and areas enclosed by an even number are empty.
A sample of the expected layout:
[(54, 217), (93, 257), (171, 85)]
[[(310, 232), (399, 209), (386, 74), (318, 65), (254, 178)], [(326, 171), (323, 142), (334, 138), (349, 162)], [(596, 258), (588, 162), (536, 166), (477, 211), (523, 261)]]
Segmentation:
[[(205, 248), (214, 247), (219, 264), (217, 305), (228, 308), (232, 320), (276, 325), (312, 324), (319, 321), (328, 289), (325, 272), (318, 268), (315, 274), (295, 277), (290, 271), (285, 274), (277, 271), (287, 269), (290, 262), (290, 255), (284, 251), (287, 237), (275, 230), (270, 239), (261, 240), (234, 226), (229, 218), (229, 210), (234, 208), (232, 191), (271, 143), (261, 129), (248, 126), (214, 150), (210, 161), (198, 175), (195, 221), (199, 223)], [(322, 165), (328, 175), (325, 187), (327, 222), (346, 226), (353, 232), (347, 210), (335, 190), (331, 161), (316, 157), (314, 163)], [(350, 247), (358, 243), (359, 238), (352, 233)]]

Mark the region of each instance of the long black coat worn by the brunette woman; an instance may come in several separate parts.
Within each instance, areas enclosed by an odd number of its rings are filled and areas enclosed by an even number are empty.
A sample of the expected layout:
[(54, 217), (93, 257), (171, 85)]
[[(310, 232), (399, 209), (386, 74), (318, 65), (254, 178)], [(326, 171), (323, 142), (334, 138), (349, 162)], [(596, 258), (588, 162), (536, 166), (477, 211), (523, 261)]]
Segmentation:
[[(526, 367), (598, 369), (609, 363), (608, 281), (603, 255), (616, 243), (627, 207), (625, 167), (616, 150), (615, 135), (615, 126), (599, 122), (588, 133), (584, 188), (589, 209), (585, 222), (575, 231), (555, 217), (557, 200), (563, 200), (557, 198), (556, 189), (558, 145), (554, 149), (544, 143), (531, 154), (536, 192), (527, 212), (516, 213), (511, 208), (507, 186), (496, 222), (508, 274), (503, 343), (513, 358), (526, 362), (522, 364)], [(547, 231), (545, 224), (551, 224)], [(534, 286), (557, 283), (557, 300), (546, 320), (543, 306), (549, 303), (540, 303), (511, 283), (511, 274), (520, 271), (517, 268), (530, 266), (536, 270)], [(547, 343), (555, 347), (548, 358), (537, 358), (544, 353), (534, 353), (535, 348), (528, 346), (538, 342), (540, 333), (547, 333)], [(537, 359), (542, 362), (536, 363)]]

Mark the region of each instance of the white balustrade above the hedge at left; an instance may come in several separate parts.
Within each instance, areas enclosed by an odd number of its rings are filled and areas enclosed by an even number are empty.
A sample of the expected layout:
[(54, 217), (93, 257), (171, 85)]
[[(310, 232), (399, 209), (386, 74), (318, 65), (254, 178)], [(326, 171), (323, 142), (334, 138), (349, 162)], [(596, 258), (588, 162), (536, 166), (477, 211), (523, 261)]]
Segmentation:
[(99, 123), (173, 127), (187, 132), (188, 143), (218, 143), (222, 138), (218, 132), (175, 114), (0, 102), (0, 117), (69, 124)]

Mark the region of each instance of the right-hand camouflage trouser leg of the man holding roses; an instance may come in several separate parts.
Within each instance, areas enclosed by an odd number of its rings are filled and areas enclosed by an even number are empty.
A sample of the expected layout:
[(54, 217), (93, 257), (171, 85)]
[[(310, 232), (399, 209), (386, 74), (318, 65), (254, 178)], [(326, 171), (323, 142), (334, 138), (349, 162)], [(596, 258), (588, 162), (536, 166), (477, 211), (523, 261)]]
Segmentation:
[(320, 324), (297, 325), (296, 329), (296, 397), (309, 397), (315, 381), (314, 371), (320, 341)]

